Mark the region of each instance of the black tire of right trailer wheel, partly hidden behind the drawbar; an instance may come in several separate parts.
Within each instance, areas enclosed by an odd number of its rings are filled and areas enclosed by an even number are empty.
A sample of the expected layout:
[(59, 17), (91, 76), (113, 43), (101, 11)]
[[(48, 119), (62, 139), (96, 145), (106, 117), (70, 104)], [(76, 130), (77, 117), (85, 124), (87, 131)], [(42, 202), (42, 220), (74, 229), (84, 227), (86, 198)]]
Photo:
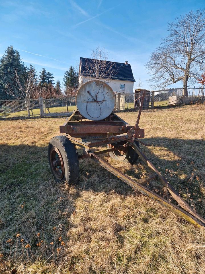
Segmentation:
[[(135, 144), (140, 147), (139, 142), (135, 141)], [(123, 161), (124, 163), (134, 164), (138, 160), (139, 155), (132, 146), (128, 146), (127, 148), (128, 150), (126, 154), (121, 154), (119, 150), (110, 151), (110, 157), (114, 160)]]

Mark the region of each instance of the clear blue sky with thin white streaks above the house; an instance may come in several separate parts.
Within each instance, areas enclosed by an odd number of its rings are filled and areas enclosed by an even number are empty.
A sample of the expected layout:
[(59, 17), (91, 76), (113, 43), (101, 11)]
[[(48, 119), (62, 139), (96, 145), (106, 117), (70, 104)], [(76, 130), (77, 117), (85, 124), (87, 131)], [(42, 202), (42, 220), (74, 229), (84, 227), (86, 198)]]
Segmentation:
[(110, 61), (128, 60), (134, 87), (141, 78), (142, 88), (151, 88), (144, 64), (166, 35), (167, 22), (199, 8), (205, 1), (0, 0), (0, 55), (13, 45), (26, 65), (35, 64), (38, 72), (45, 67), (62, 82), (70, 65), (77, 67), (101, 45)]

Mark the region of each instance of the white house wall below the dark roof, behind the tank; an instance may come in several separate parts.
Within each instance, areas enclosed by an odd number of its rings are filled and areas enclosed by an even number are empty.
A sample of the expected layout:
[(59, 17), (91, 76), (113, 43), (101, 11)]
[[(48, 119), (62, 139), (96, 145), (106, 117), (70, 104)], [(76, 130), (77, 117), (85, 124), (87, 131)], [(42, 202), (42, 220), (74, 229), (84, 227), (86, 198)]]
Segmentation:
[[(87, 78), (85, 76), (79, 76), (79, 87), (84, 84), (85, 82), (95, 80), (95, 78)], [(134, 87), (134, 82), (132, 81), (122, 81), (122, 80), (106, 80), (106, 79), (101, 79), (103, 82), (108, 82), (109, 86), (113, 89), (113, 91), (119, 91), (119, 92), (124, 92), (124, 93), (133, 93), (133, 87)], [(120, 84), (124, 84), (124, 90), (120, 90)]]

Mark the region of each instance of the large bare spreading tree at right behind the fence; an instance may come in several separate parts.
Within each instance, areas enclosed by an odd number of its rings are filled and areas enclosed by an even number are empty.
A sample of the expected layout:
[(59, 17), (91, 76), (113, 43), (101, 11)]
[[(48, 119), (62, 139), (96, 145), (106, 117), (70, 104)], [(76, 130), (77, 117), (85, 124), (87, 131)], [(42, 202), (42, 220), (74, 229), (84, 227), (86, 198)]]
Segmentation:
[(184, 17), (168, 24), (169, 34), (152, 53), (146, 64), (151, 74), (149, 82), (155, 87), (183, 81), (187, 96), (187, 83), (199, 78), (205, 64), (205, 12), (190, 11)]

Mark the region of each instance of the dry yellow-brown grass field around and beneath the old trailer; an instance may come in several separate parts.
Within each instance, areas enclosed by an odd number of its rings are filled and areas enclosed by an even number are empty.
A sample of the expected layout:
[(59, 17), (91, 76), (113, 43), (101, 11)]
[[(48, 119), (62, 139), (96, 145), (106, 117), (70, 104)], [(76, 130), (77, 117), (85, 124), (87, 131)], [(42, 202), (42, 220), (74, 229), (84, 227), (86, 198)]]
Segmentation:
[[(137, 112), (119, 115), (134, 124)], [(78, 185), (54, 182), (47, 146), (64, 121), (0, 121), (0, 273), (204, 273), (205, 231), (92, 160), (81, 160)], [(140, 127), (145, 154), (205, 217), (205, 105), (144, 110)], [(148, 174), (141, 160), (102, 157), (132, 178)], [(157, 180), (147, 187), (169, 198)]]

